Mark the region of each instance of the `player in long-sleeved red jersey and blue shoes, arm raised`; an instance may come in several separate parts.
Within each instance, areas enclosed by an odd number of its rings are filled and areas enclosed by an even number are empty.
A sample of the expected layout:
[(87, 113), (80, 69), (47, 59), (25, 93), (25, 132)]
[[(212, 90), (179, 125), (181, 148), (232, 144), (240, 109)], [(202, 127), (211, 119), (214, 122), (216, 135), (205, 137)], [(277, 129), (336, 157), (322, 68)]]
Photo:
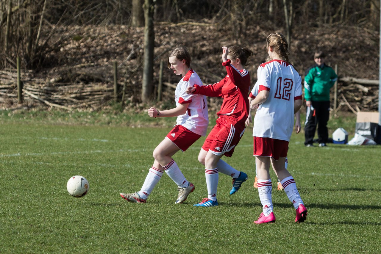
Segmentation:
[(205, 165), (208, 197), (194, 206), (218, 205), (216, 196), (218, 172), (233, 178), (230, 194), (237, 192), (241, 184), (247, 180), (247, 174), (232, 168), (221, 160), (221, 157), (223, 155), (232, 156), (234, 147), (245, 131), (245, 120), (249, 111), (247, 94), (250, 88), (250, 74), (244, 69), (244, 65), (253, 51), (238, 46), (231, 46), (229, 49), (224, 46), (222, 51), (222, 65), (226, 68), (226, 77), (213, 85), (194, 85), (187, 89), (188, 93), (224, 98), (221, 109), (217, 113), (216, 125), (209, 133), (199, 153), (199, 161)]

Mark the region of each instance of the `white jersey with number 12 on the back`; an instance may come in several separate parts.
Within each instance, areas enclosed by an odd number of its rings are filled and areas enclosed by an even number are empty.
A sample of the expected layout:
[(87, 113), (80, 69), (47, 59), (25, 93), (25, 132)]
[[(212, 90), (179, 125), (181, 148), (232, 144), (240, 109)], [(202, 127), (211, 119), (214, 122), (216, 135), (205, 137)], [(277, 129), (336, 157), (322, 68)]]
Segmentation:
[(294, 127), (294, 101), (302, 99), (299, 73), (285, 61), (265, 62), (259, 65), (256, 86), (258, 93), (267, 90), (269, 96), (255, 114), (253, 136), (290, 141)]

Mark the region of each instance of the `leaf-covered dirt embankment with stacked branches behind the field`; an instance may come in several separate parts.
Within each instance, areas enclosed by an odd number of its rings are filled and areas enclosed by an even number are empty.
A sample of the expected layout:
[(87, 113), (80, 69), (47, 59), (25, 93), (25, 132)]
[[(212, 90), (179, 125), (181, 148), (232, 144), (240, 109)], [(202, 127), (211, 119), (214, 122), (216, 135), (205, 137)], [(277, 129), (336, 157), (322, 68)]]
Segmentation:
[[(240, 38), (232, 38), (229, 27), (218, 27), (211, 21), (181, 25), (155, 24), (154, 84), (158, 83), (160, 61), (164, 61), (163, 81), (177, 83), (178, 77), (166, 69), (166, 59), (169, 51), (178, 44), (189, 48), (192, 55), (191, 67), (204, 83), (214, 83), (226, 75), (221, 67), (222, 46), (240, 45), (250, 48), (254, 55), (249, 59), (247, 69), (254, 84), (256, 69), (266, 59), (264, 41), (274, 31), (282, 32), (282, 29), (255, 24), (247, 27)], [(121, 98), (124, 85), (125, 106), (136, 107), (140, 104), (143, 32), (142, 28), (127, 26), (73, 27), (70, 39), (46, 58), (42, 70), (22, 75), (26, 91), (24, 104), (27, 107), (61, 105), (79, 110), (108, 107), (114, 91), (113, 64), (117, 62), (119, 96)], [(378, 33), (358, 27), (295, 27), (290, 43), (290, 61), (303, 78), (304, 71), (314, 64), (314, 51), (321, 49), (327, 54), (327, 63), (338, 66), (339, 77), (376, 80), (378, 43)], [(10, 70), (0, 73), (2, 108), (17, 106), (14, 75), (15, 72)], [(359, 86), (339, 81), (338, 104), (344, 102), (343, 97), (355, 110), (377, 110), (378, 86)], [(173, 91), (164, 86), (162, 104), (165, 106), (166, 101), (172, 98)], [(218, 109), (219, 100), (210, 100), (211, 109)], [(349, 110), (347, 104), (343, 104), (342, 110)]]

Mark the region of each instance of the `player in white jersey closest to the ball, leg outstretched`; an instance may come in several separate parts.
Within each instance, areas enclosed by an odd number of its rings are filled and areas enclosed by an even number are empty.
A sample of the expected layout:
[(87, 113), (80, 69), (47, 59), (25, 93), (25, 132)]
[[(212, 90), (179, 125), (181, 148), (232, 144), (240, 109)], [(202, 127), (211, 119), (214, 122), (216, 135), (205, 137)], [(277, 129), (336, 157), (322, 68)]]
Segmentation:
[(120, 196), (127, 201), (146, 203), (148, 196), (163, 176), (164, 171), (178, 185), (179, 194), (175, 204), (184, 202), (189, 193), (195, 189), (172, 159), (176, 152), (179, 150), (184, 152), (197, 139), (207, 133), (208, 107), (206, 97), (200, 94), (186, 93), (189, 86), (203, 85), (197, 73), (190, 68), (190, 64), (191, 56), (184, 46), (175, 48), (168, 58), (168, 68), (173, 70), (174, 74), (182, 75), (174, 95), (176, 107), (162, 111), (151, 107), (148, 110), (148, 115), (155, 118), (177, 116), (177, 124), (155, 148), (153, 153), (154, 165), (149, 169), (141, 190), (135, 193), (120, 193)]

